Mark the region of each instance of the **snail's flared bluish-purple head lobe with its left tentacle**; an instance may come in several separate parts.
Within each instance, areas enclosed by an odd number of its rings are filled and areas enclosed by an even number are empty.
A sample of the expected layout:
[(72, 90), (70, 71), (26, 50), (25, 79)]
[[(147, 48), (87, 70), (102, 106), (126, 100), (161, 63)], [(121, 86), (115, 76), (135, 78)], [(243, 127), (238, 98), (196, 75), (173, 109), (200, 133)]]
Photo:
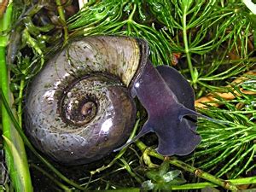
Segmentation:
[[(186, 108), (183, 109), (186, 110)], [(115, 149), (114, 152), (136, 142), (148, 132), (154, 132), (158, 137), (159, 144), (156, 151), (159, 154), (164, 156), (190, 154), (201, 142), (201, 137), (191, 127), (189, 119), (186, 119), (184, 115), (179, 113), (174, 115), (174, 113), (176, 112), (170, 109), (157, 119), (149, 117), (137, 136), (122, 147)]]

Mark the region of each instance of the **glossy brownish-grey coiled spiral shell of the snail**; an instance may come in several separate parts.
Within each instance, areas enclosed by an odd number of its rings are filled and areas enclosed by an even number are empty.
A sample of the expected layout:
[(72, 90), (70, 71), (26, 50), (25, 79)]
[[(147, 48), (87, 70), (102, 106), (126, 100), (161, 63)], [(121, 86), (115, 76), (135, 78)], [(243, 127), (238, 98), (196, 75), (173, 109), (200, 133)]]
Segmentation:
[(136, 118), (129, 87), (143, 68), (146, 47), (134, 38), (106, 36), (68, 44), (28, 90), (32, 143), (67, 165), (101, 159), (124, 143)]

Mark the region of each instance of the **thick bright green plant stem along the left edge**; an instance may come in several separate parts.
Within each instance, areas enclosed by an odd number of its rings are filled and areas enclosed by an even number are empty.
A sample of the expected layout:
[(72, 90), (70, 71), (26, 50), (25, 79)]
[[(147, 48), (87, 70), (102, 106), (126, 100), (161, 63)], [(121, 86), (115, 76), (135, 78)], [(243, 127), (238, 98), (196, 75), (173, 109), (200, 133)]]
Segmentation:
[[(0, 20), (0, 84), (3, 96), (10, 103), (9, 71), (6, 63), (6, 46), (9, 41), (13, 3), (9, 3), (3, 18)], [(2, 125), (5, 160), (12, 183), (16, 191), (32, 191), (32, 182), (26, 160), (24, 143), (18, 132), (10, 123), (9, 113), (2, 103)], [(16, 158), (15, 158), (16, 157)], [(17, 158), (18, 157), (18, 158)]]

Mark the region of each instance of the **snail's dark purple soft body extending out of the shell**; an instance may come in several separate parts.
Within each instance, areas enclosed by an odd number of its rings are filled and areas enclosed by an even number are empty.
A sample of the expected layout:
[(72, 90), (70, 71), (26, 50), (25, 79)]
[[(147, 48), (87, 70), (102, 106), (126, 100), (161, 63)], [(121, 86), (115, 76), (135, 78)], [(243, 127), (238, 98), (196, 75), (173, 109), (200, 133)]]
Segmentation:
[[(153, 80), (154, 79), (154, 80)], [(159, 154), (186, 155), (201, 142), (195, 132), (195, 96), (190, 84), (176, 69), (167, 66), (153, 67), (148, 61), (144, 73), (134, 91), (143, 107), (147, 110), (148, 120), (142, 130), (118, 151), (135, 142), (148, 132), (154, 132), (159, 140)]]

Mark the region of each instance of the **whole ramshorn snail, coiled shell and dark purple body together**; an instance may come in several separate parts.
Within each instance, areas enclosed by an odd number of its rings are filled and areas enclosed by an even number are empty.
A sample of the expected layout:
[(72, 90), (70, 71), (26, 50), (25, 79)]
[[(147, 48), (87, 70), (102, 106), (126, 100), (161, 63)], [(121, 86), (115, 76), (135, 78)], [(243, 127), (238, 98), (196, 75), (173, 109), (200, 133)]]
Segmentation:
[(54, 160), (79, 165), (99, 160), (125, 143), (136, 119), (138, 100), (149, 131), (159, 137), (158, 152), (184, 155), (201, 137), (189, 83), (172, 67), (148, 61), (142, 39), (113, 36), (73, 41), (33, 79), (26, 96), (26, 133)]

